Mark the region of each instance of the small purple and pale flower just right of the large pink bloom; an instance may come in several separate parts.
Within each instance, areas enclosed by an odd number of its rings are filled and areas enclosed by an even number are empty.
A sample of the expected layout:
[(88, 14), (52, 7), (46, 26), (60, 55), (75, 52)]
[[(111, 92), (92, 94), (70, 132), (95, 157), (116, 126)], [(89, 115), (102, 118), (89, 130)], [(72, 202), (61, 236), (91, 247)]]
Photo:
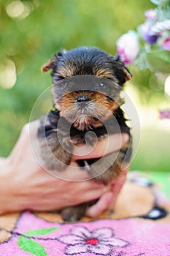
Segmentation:
[(151, 33), (151, 25), (148, 22), (143, 23), (140, 26), (140, 29), (142, 31), (142, 37), (144, 41), (148, 42), (150, 45), (155, 44), (158, 37), (160, 37), (160, 34), (152, 34)]

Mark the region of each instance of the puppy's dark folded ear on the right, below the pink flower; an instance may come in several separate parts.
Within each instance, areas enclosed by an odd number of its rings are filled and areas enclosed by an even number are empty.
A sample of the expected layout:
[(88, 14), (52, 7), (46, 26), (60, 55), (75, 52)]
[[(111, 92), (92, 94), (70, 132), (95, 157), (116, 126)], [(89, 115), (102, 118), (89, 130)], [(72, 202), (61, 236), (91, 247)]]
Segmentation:
[(112, 56), (113, 69), (115, 76), (120, 81), (120, 85), (125, 83), (125, 81), (131, 80), (131, 72), (125, 67), (123, 61), (120, 60), (120, 56)]

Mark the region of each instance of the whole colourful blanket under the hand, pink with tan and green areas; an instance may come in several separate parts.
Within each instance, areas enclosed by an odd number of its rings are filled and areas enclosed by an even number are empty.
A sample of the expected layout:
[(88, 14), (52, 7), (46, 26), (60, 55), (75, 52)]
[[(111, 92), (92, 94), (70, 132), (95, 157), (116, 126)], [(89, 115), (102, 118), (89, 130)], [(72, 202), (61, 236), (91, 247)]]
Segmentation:
[(98, 219), (70, 224), (54, 212), (31, 211), (1, 216), (0, 255), (169, 256), (169, 179), (131, 173), (115, 212)]

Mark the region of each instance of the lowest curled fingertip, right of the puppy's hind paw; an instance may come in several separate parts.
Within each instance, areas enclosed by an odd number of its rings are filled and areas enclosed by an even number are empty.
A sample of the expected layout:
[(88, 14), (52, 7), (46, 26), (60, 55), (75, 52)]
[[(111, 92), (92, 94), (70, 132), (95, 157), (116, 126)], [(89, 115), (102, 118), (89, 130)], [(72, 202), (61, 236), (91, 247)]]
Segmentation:
[(97, 217), (109, 208), (112, 201), (112, 192), (105, 192), (97, 201), (97, 203), (86, 211), (88, 217)]

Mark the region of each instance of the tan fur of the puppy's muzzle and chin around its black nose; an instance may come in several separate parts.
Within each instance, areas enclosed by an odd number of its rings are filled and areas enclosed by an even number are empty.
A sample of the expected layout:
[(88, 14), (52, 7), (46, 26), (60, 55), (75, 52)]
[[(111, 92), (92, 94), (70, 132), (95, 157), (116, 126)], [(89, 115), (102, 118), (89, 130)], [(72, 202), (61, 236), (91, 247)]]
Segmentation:
[[(89, 98), (83, 106), (77, 102), (81, 95)], [(79, 129), (101, 126), (101, 122), (112, 116), (118, 107), (118, 102), (110, 101), (104, 94), (96, 91), (74, 91), (55, 102), (55, 108), (60, 110), (61, 116)]]

